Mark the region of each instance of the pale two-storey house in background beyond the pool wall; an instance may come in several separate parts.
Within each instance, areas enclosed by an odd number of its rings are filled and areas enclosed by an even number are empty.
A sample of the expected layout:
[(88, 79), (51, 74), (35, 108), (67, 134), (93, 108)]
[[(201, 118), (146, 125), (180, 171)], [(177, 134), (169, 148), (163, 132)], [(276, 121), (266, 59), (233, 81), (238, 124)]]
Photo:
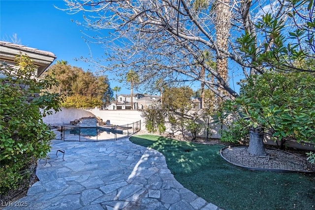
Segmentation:
[[(129, 94), (120, 94), (117, 97), (117, 101), (112, 101), (111, 104), (107, 107), (109, 110), (123, 110), (131, 109), (131, 95)], [(160, 103), (160, 96), (158, 95), (149, 95), (149, 94), (141, 94), (136, 93), (132, 97), (133, 109), (141, 110), (152, 104)], [(116, 107), (117, 106), (117, 107)]]

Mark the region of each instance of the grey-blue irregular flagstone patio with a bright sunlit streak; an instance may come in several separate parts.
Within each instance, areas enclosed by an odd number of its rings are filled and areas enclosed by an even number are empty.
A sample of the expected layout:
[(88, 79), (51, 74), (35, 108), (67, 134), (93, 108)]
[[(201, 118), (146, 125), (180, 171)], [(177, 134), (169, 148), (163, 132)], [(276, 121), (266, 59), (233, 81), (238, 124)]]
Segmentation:
[(64, 161), (55, 152), (39, 161), (39, 181), (14, 203), (28, 205), (21, 209), (220, 210), (175, 180), (160, 152), (127, 138), (53, 145), (65, 150)]

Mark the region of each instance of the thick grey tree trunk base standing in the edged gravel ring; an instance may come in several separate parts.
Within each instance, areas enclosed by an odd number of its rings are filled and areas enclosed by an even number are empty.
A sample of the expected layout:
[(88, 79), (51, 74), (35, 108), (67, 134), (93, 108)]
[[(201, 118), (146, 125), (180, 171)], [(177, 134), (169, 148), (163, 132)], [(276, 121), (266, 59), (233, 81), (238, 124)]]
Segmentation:
[(264, 147), (264, 134), (258, 130), (250, 130), (250, 145), (248, 152), (255, 156), (266, 156), (267, 152)]

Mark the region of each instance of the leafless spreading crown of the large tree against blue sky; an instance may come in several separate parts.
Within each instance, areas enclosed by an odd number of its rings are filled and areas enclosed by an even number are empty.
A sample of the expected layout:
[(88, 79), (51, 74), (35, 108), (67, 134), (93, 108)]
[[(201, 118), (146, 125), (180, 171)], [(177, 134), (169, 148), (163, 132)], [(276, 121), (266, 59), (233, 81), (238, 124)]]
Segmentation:
[[(260, 28), (256, 25), (268, 13), (278, 20), (282, 27), (278, 30), (289, 32), (292, 17), (296, 16), (292, 13), (296, 1), (195, 1), (65, 0), (65, 10), (84, 11), (86, 26), (102, 32), (90, 38), (108, 49), (112, 65), (104, 69), (118, 76), (132, 69), (139, 75), (139, 82), (148, 87), (160, 78), (167, 84), (200, 81), (223, 100), (233, 99), (238, 93), (228, 83), (227, 64), (236, 66), (234, 70), (245, 78), (270, 67), (262, 61), (278, 50), (271, 46), (279, 43), (275, 39), (279, 31), (271, 30), (273, 26), (268, 24)], [(202, 8), (196, 9), (196, 5)], [(204, 51), (216, 58), (216, 68), (204, 60)], [(215, 79), (204, 77), (201, 69)]]

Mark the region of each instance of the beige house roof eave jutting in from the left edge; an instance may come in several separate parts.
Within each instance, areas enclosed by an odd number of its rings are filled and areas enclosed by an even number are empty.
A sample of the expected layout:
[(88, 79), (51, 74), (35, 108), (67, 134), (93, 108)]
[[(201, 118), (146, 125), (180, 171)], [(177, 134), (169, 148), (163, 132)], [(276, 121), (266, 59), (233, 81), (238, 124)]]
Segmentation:
[(0, 41), (0, 61), (15, 65), (15, 56), (20, 52), (26, 54), (32, 59), (33, 64), (38, 66), (37, 76), (39, 77), (48, 66), (57, 58), (55, 54), (38, 50), (36, 48), (27, 47), (24, 45), (13, 44), (10, 42)]

